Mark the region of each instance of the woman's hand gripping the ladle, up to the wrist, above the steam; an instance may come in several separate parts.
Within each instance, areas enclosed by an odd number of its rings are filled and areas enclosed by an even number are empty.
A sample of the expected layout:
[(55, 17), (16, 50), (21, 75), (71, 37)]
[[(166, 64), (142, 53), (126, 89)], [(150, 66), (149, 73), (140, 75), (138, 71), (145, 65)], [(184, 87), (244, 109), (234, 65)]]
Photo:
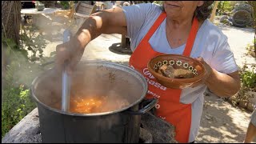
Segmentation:
[(71, 74), (81, 60), (84, 50), (77, 38), (71, 38), (69, 42), (56, 46), (55, 66), (58, 72), (64, 70), (64, 62), (67, 62), (66, 70), (68, 74)]

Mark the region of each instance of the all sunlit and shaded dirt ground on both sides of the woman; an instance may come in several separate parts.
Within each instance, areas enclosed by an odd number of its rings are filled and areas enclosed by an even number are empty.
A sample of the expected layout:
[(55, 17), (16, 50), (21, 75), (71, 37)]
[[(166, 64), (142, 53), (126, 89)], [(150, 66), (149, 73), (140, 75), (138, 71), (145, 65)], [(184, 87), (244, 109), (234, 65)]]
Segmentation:
[[(251, 29), (236, 28), (233, 26), (219, 26), (229, 38), (230, 48), (238, 66), (246, 62), (255, 63), (255, 58), (245, 56), (246, 45), (253, 41), (254, 31)], [(62, 43), (62, 34), (57, 34), (54, 41), (49, 42), (44, 54), (50, 55), (55, 46)], [(121, 42), (120, 34), (102, 34), (86, 47), (82, 60), (98, 59), (110, 62), (128, 64), (129, 54), (118, 54), (111, 50), (111, 46), (117, 46)], [(202, 113), (201, 126), (196, 142), (243, 142), (246, 129), (250, 122), (250, 111), (242, 110), (223, 101), (215, 94), (206, 92), (205, 104)], [(254, 142), (256, 142), (254, 140)]]

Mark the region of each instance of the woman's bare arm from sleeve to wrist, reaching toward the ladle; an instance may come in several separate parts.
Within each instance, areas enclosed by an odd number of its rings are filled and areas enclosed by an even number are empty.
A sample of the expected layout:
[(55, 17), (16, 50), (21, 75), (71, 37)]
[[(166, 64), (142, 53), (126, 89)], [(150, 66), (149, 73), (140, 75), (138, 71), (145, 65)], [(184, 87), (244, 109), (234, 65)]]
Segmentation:
[(76, 39), (82, 48), (101, 34), (126, 34), (126, 17), (122, 8), (116, 7), (110, 10), (92, 14), (79, 28)]

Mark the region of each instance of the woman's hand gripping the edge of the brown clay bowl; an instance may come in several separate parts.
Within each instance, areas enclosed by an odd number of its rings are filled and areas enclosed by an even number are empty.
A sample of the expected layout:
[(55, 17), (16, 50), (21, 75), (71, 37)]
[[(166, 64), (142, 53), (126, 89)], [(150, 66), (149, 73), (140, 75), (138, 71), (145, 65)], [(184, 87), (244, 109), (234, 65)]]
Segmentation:
[(205, 67), (206, 73), (201, 81), (194, 83), (190, 87), (195, 87), (195, 86), (198, 86), (201, 84), (205, 84), (206, 80), (210, 77), (211, 74), (213, 74), (213, 69), (203, 60), (202, 57), (198, 57), (198, 58), (194, 58), (194, 59), (198, 60), (199, 62), (201, 62), (203, 64), (203, 66)]

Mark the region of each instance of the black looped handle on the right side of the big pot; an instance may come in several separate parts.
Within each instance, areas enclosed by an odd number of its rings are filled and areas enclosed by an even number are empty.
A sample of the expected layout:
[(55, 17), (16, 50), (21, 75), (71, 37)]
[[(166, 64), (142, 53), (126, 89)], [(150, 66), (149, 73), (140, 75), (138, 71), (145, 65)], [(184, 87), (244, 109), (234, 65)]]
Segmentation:
[(126, 113), (133, 114), (133, 115), (145, 114), (146, 112), (150, 111), (158, 103), (158, 99), (151, 98), (151, 99), (143, 100), (141, 103), (142, 106), (143, 106), (143, 103), (147, 103), (147, 105), (144, 106), (141, 110), (138, 110), (138, 111), (126, 110)]

